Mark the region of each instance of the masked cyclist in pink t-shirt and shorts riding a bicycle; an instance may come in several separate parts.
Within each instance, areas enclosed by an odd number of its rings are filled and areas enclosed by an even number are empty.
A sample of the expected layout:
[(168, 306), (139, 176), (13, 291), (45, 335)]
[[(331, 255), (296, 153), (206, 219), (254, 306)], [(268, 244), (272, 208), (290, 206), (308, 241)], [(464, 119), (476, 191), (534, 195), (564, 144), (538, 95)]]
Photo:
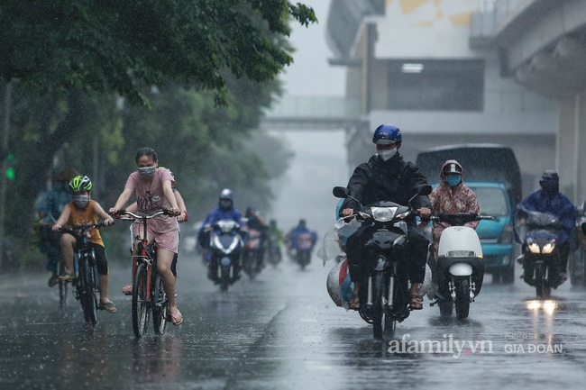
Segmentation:
[[(142, 148), (136, 154), (138, 170), (130, 174), (126, 180), (124, 191), (118, 197), (110, 213), (116, 213), (124, 208), (131, 195), (136, 196), (138, 211), (153, 213), (160, 209), (169, 209), (171, 213), (179, 215), (177, 199), (173, 195), (175, 179), (167, 168), (160, 168), (157, 153), (151, 148)], [(133, 235), (137, 240), (142, 239), (141, 225), (133, 226)], [(173, 258), (179, 251), (179, 223), (177, 218), (160, 215), (148, 222), (147, 240), (155, 240), (157, 244), (157, 268), (163, 281), (163, 288), (169, 298), (169, 314), (173, 325), (180, 325), (183, 316), (175, 301), (175, 277), (171, 271)], [(134, 245), (136, 254), (136, 245)]]

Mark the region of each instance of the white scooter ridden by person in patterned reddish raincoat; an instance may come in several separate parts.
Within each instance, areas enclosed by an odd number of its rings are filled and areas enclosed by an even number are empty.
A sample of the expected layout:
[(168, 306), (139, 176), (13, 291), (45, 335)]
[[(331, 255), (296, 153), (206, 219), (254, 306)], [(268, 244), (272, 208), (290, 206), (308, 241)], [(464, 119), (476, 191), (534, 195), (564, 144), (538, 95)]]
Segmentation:
[(436, 301), (442, 317), (452, 317), (455, 304), (456, 317), (468, 318), (470, 303), (479, 295), (484, 278), (484, 261), (481, 240), (467, 222), (494, 220), (493, 216), (476, 213), (442, 213), (431, 218), (434, 222), (450, 224), (440, 237), (435, 261), (433, 250), (428, 263), (432, 268), (436, 286)]

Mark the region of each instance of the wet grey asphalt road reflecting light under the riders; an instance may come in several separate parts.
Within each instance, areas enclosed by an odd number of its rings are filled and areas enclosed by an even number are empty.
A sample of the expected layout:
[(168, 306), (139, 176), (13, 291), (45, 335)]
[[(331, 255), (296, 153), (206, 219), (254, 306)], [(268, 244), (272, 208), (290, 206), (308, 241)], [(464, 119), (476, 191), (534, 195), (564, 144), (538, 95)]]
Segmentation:
[(468, 321), (442, 322), (426, 300), (381, 343), (327, 295), (333, 262), (313, 258), (300, 271), (285, 259), (220, 293), (198, 258), (180, 261), (185, 321), (142, 340), (120, 293), (129, 269), (112, 269), (118, 311), (99, 312), (93, 333), (82, 330), (77, 301), (60, 313), (48, 274), (0, 276), (0, 388), (581, 389), (586, 381), (586, 291), (569, 282), (539, 304), (521, 280), (496, 286), (487, 276)]

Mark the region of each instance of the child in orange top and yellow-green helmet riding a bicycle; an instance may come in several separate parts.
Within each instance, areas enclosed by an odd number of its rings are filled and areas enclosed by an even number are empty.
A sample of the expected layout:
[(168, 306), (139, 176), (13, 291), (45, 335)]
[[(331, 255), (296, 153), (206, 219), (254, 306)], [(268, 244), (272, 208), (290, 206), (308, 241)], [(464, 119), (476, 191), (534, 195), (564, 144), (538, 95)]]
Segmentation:
[[(102, 206), (90, 199), (89, 190), (91, 189), (92, 182), (87, 176), (73, 177), (69, 181), (69, 191), (72, 194), (73, 201), (65, 205), (59, 219), (51, 228), (53, 231), (59, 231), (63, 226), (97, 223), (100, 219), (104, 220), (106, 226), (114, 223), (114, 219), (105, 213)], [(97, 229), (90, 229), (89, 232), (91, 234), (89, 245), (96, 251), (96, 267), (99, 276), (100, 303), (98, 307), (108, 313), (114, 313), (116, 306), (108, 299), (108, 259), (105, 256), (104, 241)], [(61, 234), (60, 246), (63, 260), (65, 261), (66, 275), (60, 277), (60, 279), (66, 282), (75, 280), (73, 257), (76, 245), (77, 239), (75, 236), (69, 234), (69, 232)]]

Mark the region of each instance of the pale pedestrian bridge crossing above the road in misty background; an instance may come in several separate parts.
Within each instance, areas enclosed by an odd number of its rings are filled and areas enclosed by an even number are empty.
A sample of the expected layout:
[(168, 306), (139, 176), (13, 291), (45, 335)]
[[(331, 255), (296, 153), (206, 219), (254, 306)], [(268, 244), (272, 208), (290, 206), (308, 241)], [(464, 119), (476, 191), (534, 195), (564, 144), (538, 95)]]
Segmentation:
[(360, 100), (340, 96), (283, 96), (265, 112), (264, 130), (343, 130), (360, 122)]

